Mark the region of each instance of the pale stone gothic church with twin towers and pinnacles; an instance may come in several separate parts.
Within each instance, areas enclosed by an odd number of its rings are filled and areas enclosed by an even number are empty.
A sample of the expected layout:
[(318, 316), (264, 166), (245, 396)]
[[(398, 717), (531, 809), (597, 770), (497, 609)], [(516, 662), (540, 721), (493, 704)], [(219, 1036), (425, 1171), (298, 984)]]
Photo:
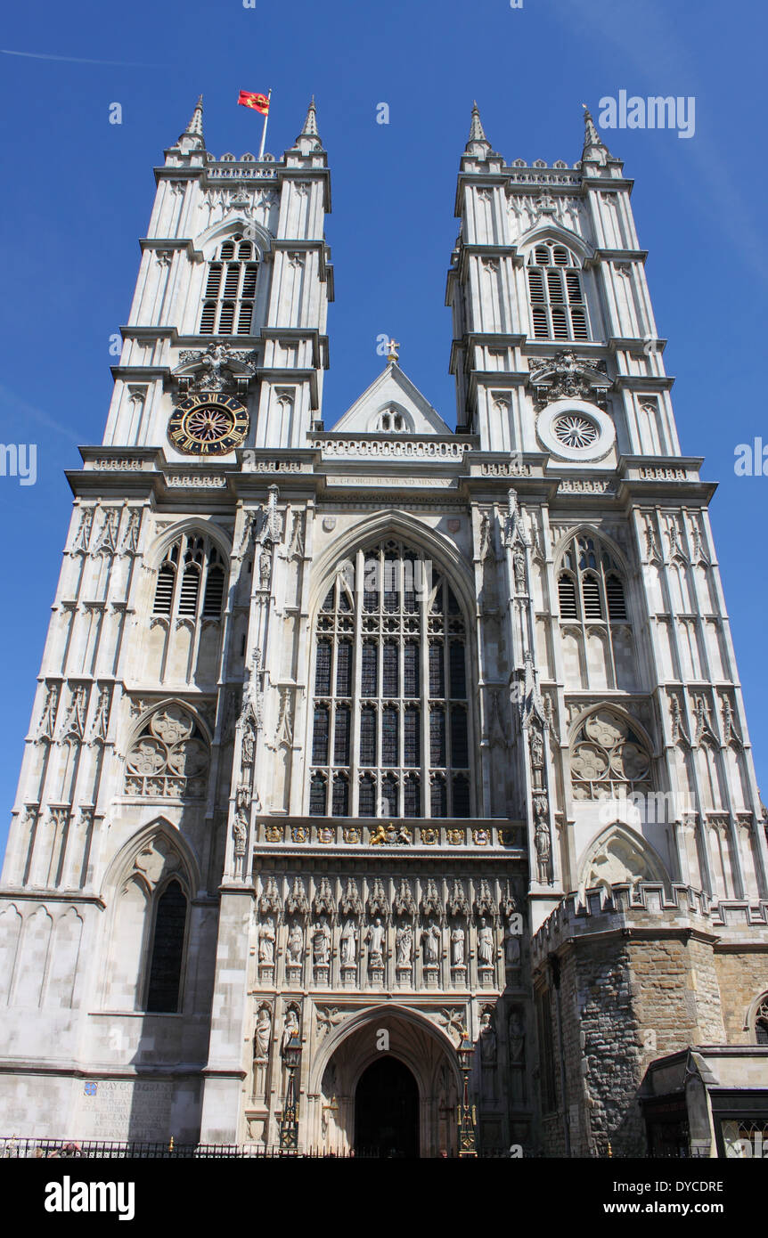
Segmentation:
[[(157, 193), (0, 889), (0, 1135), (723, 1155), (768, 1123), (768, 853), (629, 204), (477, 109), (457, 428), (322, 418), (326, 152)], [(333, 422), (333, 423), (331, 423)], [(768, 1129), (768, 1128), (767, 1128)]]

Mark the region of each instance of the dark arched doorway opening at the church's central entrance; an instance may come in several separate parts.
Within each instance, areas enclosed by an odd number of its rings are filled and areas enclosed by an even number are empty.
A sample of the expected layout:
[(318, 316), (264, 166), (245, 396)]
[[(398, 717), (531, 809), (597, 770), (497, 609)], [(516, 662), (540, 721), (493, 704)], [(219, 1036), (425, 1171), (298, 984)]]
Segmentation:
[(354, 1146), (358, 1155), (419, 1156), (419, 1087), (408, 1066), (389, 1054), (358, 1081)]

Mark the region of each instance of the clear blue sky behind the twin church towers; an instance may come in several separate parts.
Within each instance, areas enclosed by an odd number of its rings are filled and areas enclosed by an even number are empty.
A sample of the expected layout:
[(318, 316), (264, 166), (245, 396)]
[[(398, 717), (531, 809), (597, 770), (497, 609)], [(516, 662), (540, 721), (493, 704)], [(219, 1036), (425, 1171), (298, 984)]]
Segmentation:
[[(327, 236), (337, 296), (326, 425), (379, 373), (380, 332), (401, 342), (404, 369), (455, 423), (443, 293), (473, 98), (508, 161), (572, 163), (582, 102), (597, 115), (600, 99), (621, 89), (695, 97), (690, 140), (664, 130), (604, 136), (637, 182), (633, 206), (659, 332), (669, 339), (668, 371), (678, 378), (683, 451), (704, 456), (704, 477), (720, 482), (712, 520), (768, 795), (766, 584), (754, 553), (768, 477), (733, 472), (738, 443), (762, 435), (768, 443), (764, 7), (747, 0), (255, 4), (42, 0), (6, 15), (0, 441), (36, 442), (38, 479), (21, 487), (0, 477), (0, 842), (69, 519), (63, 469), (78, 467), (78, 443), (102, 438), (109, 337), (128, 317), (152, 166), (201, 92), (208, 149), (256, 152), (261, 119), (237, 106), (240, 88), (273, 88), (266, 146), (275, 155), (292, 144), (316, 95), (332, 175)], [(109, 124), (115, 102), (121, 125)], [(389, 125), (375, 123), (382, 102)]]

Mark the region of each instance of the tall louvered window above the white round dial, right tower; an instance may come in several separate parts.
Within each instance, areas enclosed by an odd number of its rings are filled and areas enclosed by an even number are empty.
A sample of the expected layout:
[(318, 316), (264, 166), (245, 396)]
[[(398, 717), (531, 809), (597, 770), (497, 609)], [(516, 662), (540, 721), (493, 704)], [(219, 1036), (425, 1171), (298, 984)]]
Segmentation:
[(583, 274), (565, 245), (541, 241), (528, 260), (535, 339), (590, 339)]

